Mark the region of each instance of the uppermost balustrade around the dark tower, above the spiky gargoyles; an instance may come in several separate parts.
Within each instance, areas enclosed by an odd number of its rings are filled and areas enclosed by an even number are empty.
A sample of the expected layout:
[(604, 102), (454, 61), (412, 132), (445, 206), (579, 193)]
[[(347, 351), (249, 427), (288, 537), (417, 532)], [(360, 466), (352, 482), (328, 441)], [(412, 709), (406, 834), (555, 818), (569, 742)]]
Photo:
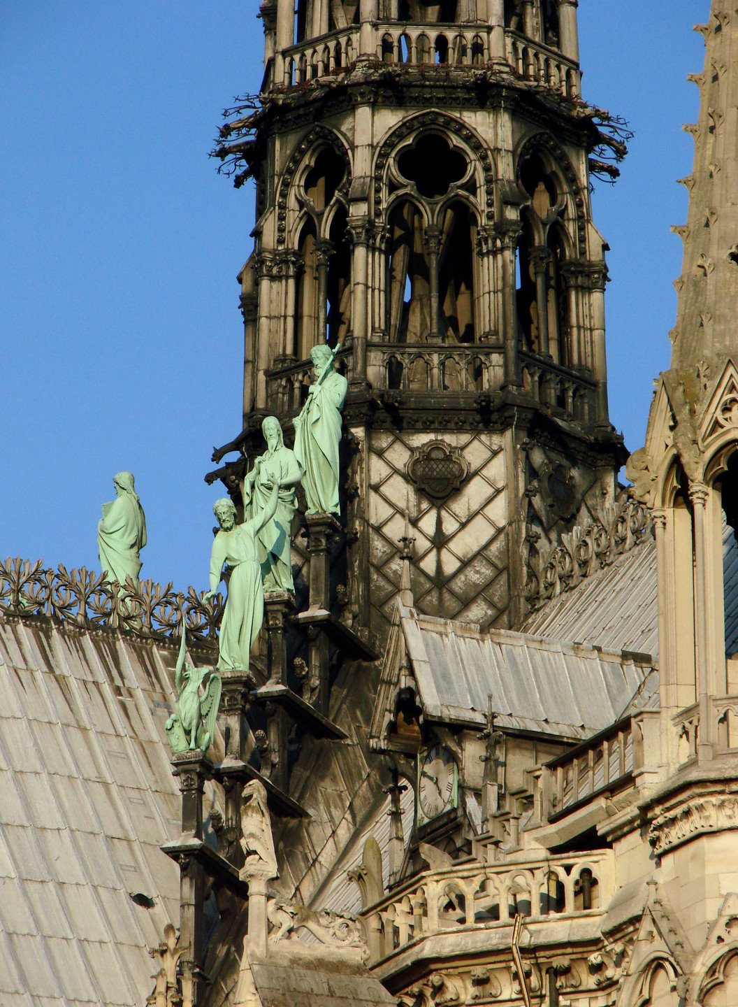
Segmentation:
[[(478, 68), (501, 56), (494, 52), (492, 40), (494, 31), (501, 29), (485, 23), (375, 21), (362, 28), (362, 55), (387, 64)], [(361, 26), (353, 24), (289, 46), (284, 50), (284, 78), (275, 82), (277, 87), (293, 88), (350, 70), (359, 55), (360, 31)], [(557, 49), (505, 30), (504, 50), (509, 67), (521, 79), (567, 98), (579, 97), (579, 67)]]

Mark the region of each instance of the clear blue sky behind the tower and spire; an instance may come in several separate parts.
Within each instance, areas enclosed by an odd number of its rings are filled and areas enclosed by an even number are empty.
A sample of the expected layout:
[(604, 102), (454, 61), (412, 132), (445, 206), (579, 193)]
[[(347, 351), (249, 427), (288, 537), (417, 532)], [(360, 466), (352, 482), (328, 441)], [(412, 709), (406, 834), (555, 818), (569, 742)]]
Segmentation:
[[(581, 0), (584, 97), (636, 136), (608, 241), (610, 415), (632, 449), (669, 367), (709, 0)], [(255, 0), (0, 5), (0, 555), (98, 568), (100, 507), (136, 475), (142, 576), (204, 590), (220, 495), (203, 474), (241, 429), (236, 274), (253, 226), (206, 154), (259, 88)]]

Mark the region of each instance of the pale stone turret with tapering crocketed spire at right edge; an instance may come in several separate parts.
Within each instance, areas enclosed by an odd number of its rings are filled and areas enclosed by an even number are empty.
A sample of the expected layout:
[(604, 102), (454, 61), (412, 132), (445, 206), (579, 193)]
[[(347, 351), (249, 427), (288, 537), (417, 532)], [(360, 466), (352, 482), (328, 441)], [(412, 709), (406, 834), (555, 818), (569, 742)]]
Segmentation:
[[(738, 783), (735, 5), (713, 0), (710, 20), (696, 30), (705, 37), (705, 68), (690, 75), (700, 116), (685, 126), (695, 139), (694, 169), (682, 179), (688, 221), (673, 229), (684, 240), (684, 262), (672, 367), (658, 379), (645, 447), (629, 459), (628, 474), (653, 509), (656, 535), (661, 758), (670, 779), (646, 808), (650, 838), (674, 878), (674, 903), (690, 905), (690, 938), (702, 940), (723, 897), (717, 879), (733, 869), (735, 833), (726, 830), (735, 828), (730, 795)], [(689, 898), (680, 888), (687, 863), (700, 878)]]

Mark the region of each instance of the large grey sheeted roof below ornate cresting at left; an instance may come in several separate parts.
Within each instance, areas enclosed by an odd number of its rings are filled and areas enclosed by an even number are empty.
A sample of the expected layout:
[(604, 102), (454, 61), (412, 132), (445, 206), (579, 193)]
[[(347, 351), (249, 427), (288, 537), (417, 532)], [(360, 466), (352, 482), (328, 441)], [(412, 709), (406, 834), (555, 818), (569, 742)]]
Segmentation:
[[(163, 646), (0, 620), (0, 1003), (140, 1007), (178, 922)], [(154, 899), (137, 905), (129, 893)]]

